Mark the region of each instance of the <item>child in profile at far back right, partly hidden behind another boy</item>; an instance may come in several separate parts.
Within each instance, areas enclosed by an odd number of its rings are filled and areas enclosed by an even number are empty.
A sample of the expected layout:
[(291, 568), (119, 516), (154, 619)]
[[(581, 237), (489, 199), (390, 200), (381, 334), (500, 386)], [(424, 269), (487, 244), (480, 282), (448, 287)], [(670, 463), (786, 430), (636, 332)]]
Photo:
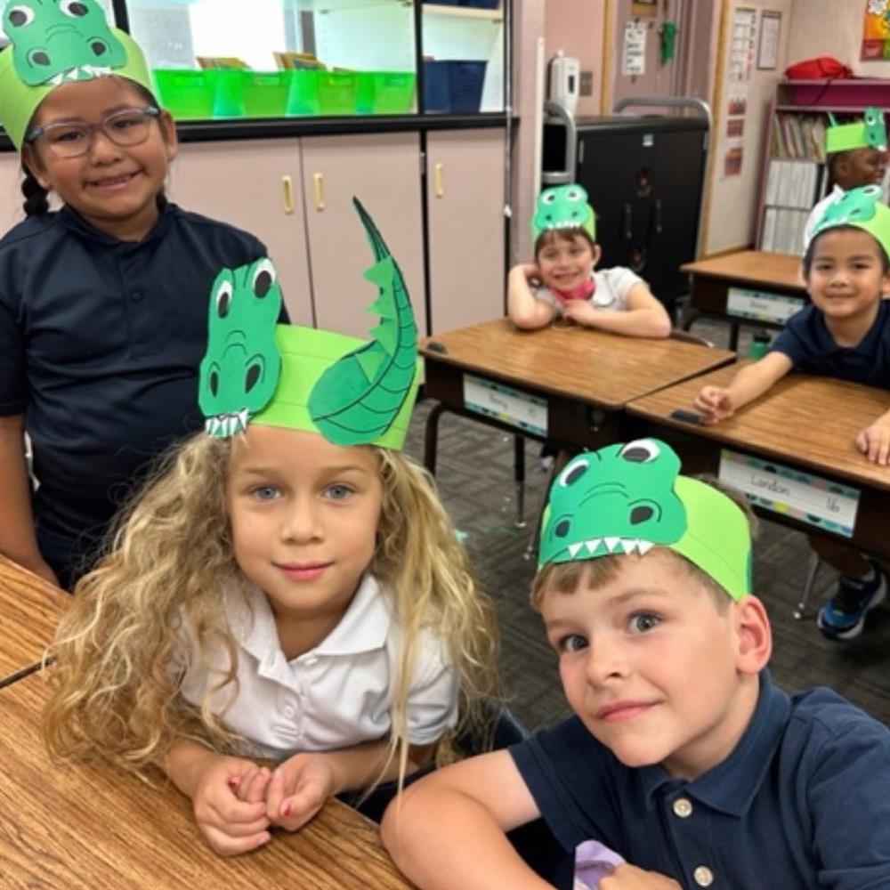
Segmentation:
[(862, 120), (837, 124), (829, 112), (825, 131), (825, 154), (828, 157), (829, 179), (834, 188), (813, 207), (804, 227), (804, 250), (813, 238), (813, 229), (837, 198), (845, 191), (884, 181), (887, 166), (887, 133), (884, 111), (870, 107), (862, 112)]

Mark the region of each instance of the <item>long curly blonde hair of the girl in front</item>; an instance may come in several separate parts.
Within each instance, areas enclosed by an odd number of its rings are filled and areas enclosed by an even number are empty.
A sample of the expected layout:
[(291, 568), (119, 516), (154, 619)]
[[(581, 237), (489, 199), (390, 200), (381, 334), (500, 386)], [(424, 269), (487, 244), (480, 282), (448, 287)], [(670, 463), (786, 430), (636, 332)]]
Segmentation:
[[(53, 644), (55, 688), (44, 711), (44, 740), (56, 758), (101, 760), (144, 776), (174, 740), (227, 752), (249, 748), (210, 709), (214, 692), (231, 684), (237, 694), (237, 646), (222, 591), (243, 577), (225, 500), (231, 451), (242, 445), (240, 437), (199, 433), (166, 455), (121, 514), (107, 553), (78, 582)], [(375, 450), (383, 498), (368, 571), (405, 629), (381, 775), (396, 758), (401, 781), (419, 629), (435, 629), (459, 676), (460, 717), (437, 746), (441, 764), (458, 755), (458, 734), (490, 738), (486, 702), (498, 699), (498, 628), (429, 474), (398, 452)], [(228, 671), (199, 708), (184, 700), (182, 677), (171, 670), (183, 623), (202, 653), (228, 653)]]

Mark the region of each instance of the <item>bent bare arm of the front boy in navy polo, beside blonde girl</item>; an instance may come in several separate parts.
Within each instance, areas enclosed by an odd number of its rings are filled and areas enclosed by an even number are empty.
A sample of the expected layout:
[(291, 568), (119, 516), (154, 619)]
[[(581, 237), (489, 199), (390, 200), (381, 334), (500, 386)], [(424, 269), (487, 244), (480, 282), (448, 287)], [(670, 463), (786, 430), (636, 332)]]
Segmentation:
[(396, 797), (381, 825), (384, 845), (423, 890), (540, 890), (505, 832), (540, 815), (505, 750), (424, 776)]

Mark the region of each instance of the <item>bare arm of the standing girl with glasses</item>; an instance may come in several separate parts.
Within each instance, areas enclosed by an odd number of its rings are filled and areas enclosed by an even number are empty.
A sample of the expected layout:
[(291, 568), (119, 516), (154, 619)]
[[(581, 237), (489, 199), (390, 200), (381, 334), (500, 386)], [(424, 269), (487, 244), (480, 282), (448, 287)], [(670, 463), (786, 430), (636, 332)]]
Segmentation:
[(23, 415), (0, 417), (0, 553), (58, 585), (34, 534), (24, 429)]

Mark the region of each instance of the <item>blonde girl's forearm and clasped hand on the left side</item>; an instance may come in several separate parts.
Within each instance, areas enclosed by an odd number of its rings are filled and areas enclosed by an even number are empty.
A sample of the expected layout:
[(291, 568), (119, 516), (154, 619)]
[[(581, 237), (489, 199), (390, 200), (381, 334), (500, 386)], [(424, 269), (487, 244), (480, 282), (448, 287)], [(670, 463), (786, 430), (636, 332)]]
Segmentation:
[(184, 739), (174, 742), (162, 766), (176, 788), (190, 797), (198, 828), (216, 853), (247, 853), (269, 842), (269, 770)]

